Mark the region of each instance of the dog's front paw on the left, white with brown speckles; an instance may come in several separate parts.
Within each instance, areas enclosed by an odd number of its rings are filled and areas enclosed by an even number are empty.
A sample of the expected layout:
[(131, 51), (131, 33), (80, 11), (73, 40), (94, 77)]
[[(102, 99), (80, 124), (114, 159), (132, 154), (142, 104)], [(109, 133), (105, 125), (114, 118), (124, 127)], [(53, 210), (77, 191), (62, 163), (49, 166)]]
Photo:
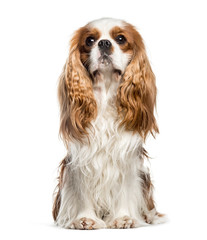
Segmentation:
[(93, 229), (99, 229), (99, 228), (105, 228), (105, 227), (106, 225), (102, 220), (95, 221), (91, 218), (86, 218), (86, 217), (76, 219), (69, 226), (69, 228), (71, 229), (81, 229), (81, 230), (93, 230)]

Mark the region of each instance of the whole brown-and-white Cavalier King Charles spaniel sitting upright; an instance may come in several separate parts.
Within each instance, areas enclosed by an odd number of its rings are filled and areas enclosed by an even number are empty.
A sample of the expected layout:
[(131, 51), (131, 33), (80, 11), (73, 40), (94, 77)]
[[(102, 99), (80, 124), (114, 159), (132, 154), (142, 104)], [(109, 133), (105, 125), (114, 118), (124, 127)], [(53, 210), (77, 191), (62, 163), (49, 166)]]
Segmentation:
[(67, 156), (53, 205), (58, 226), (135, 228), (164, 221), (143, 143), (158, 133), (155, 76), (129, 23), (99, 19), (75, 32), (59, 79)]

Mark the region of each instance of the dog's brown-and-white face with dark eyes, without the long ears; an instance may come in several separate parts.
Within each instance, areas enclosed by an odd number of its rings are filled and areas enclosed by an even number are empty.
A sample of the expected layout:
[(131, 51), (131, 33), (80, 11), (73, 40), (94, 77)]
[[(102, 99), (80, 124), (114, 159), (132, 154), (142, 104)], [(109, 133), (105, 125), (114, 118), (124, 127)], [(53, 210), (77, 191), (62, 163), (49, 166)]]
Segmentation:
[(133, 28), (116, 19), (101, 19), (81, 29), (81, 61), (91, 75), (115, 71), (123, 74), (134, 52)]

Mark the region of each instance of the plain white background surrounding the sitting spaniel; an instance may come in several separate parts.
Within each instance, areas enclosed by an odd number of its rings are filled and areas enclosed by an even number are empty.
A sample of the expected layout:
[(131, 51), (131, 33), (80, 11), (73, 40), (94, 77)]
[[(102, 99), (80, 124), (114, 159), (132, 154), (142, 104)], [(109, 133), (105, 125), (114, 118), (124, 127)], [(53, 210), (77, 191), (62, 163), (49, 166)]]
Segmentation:
[[(1, 239), (207, 239), (206, 1), (1, 1)], [(100, 17), (143, 36), (157, 77), (160, 134), (146, 148), (167, 224), (131, 230), (54, 226), (52, 193), (66, 150), (57, 79), (72, 33)]]

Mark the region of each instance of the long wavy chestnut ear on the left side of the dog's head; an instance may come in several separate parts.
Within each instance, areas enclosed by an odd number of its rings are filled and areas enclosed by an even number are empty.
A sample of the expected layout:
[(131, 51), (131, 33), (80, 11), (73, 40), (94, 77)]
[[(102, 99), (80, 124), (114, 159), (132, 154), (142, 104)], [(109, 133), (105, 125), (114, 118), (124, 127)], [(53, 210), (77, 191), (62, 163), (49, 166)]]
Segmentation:
[(82, 141), (97, 114), (92, 82), (80, 60), (79, 41), (83, 31), (81, 28), (72, 38), (70, 54), (59, 79), (60, 135), (66, 145), (74, 138)]

